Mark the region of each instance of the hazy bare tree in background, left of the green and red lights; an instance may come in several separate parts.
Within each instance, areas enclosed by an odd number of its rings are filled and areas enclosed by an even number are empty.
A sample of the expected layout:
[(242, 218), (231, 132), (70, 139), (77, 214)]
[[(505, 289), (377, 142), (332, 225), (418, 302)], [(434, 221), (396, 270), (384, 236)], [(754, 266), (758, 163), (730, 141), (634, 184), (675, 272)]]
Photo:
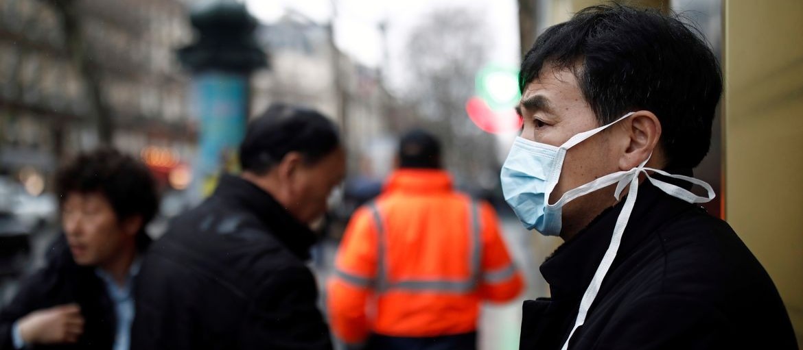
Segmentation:
[(465, 111), (490, 45), (483, 16), (460, 8), (422, 18), (406, 43), (409, 99), (426, 122), (421, 127), (442, 139), (446, 165), (464, 185), (477, 186), (479, 175), (497, 171), (493, 136), (475, 127)]

